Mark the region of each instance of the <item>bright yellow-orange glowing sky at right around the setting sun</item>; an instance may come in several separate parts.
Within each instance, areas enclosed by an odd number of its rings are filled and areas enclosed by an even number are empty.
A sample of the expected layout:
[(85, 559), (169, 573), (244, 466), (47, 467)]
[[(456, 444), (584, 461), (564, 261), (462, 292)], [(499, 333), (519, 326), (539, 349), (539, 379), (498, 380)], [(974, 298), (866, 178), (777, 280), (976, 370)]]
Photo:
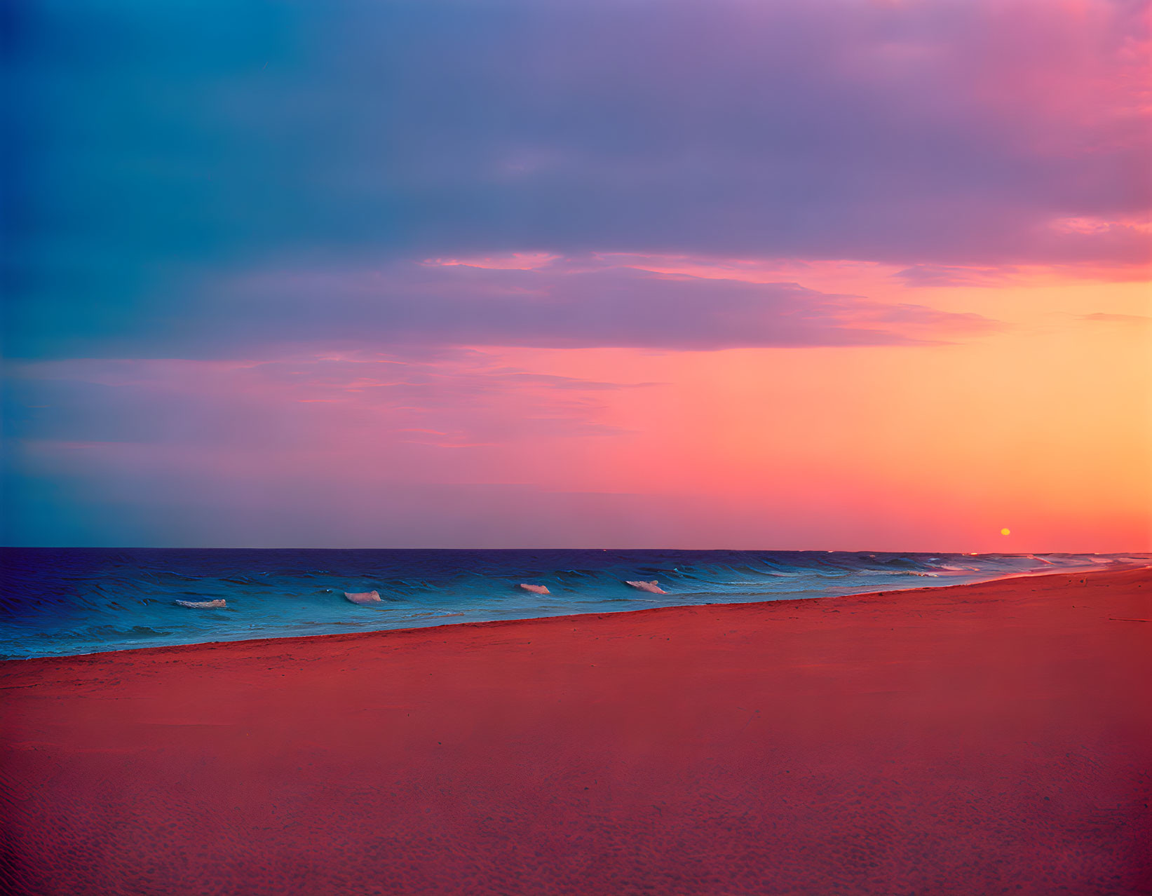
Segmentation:
[[(825, 546), (824, 530), (844, 548), (1002, 549), (999, 526), (995, 541), (978, 534), (992, 509), (1029, 533), (1014, 549), (1152, 549), (1147, 290), (1046, 280), (922, 290), (920, 302), (946, 294), (956, 310), (975, 296), (1015, 321), (952, 346), (502, 350), (540, 372), (664, 384), (599, 396), (601, 419), (627, 435), (562, 461), (513, 448), (514, 469), (550, 488), (689, 493), (734, 517), (788, 516), (811, 533), (790, 547)], [(1090, 319), (1105, 307), (1115, 321)]]

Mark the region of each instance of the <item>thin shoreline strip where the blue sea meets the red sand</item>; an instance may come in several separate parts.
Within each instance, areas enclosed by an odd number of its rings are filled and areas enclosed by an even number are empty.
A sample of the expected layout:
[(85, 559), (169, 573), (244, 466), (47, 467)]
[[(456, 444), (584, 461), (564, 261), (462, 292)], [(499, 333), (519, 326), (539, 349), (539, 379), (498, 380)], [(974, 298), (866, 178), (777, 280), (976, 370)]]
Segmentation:
[[(157, 549), (160, 549), (160, 548), (157, 548)], [(170, 548), (170, 549), (177, 549), (177, 548)], [(325, 548), (316, 548), (316, 549), (317, 550), (321, 550), (321, 549), (325, 549)], [(445, 549), (448, 549), (448, 548), (445, 548)], [(900, 593), (900, 594), (915, 594), (915, 593), (918, 593), (918, 592), (922, 592), (922, 591), (940, 591), (940, 590), (947, 590), (947, 589), (962, 589), (962, 587), (968, 587), (970, 585), (985, 585), (985, 584), (990, 584), (990, 583), (994, 583), (994, 582), (1007, 582), (1007, 580), (1017, 579), (1017, 578), (1043, 578), (1043, 577), (1046, 577), (1046, 576), (1062, 576), (1062, 575), (1068, 575), (1068, 576), (1073, 576), (1073, 575), (1076, 575), (1076, 576), (1079, 576), (1079, 575), (1092, 575), (1092, 576), (1094, 576), (1094, 575), (1098, 575), (1098, 574), (1122, 572), (1122, 571), (1139, 570), (1139, 569), (1152, 569), (1152, 565), (1145, 564), (1145, 563), (1135, 563), (1135, 562), (1134, 563), (1120, 563), (1120, 562), (1117, 562), (1115, 565), (1109, 565), (1107, 568), (1100, 568), (1100, 567), (1076, 568), (1076, 567), (1071, 567), (1071, 568), (1062, 568), (1059, 571), (1055, 571), (1055, 570), (1037, 570), (1037, 571), (1032, 571), (1032, 572), (1009, 572), (1009, 574), (999, 575), (999, 576), (991, 576), (988, 578), (968, 579), (965, 582), (957, 582), (957, 583), (953, 583), (953, 584), (943, 584), (943, 583), (938, 584), (938, 585), (919, 585), (918, 584), (918, 585), (912, 586), (912, 587), (887, 589), (885, 591), (861, 591), (861, 592), (852, 592), (850, 594), (821, 594), (819, 597), (811, 597), (811, 598), (778, 598), (775, 600), (746, 600), (746, 601), (742, 600), (742, 601), (708, 601), (708, 602), (704, 602), (704, 603), (675, 603), (675, 605), (662, 606), (662, 607), (641, 607), (638, 609), (621, 609), (621, 610), (611, 610), (611, 612), (590, 610), (588, 613), (566, 613), (566, 614), (556, 615), (556, 616), (523, 616), (523, 617), (516, 617), (516, 618), (509, 618), (509, 620), (479, 620), (479, 621), (473, 621), (473, 622), (445, 622), (445, 623), (440, 623), (438, 625), (415, 625), (415, 627), (409, 627), (409, 628), (403, 628), (403, 629), (371, 629), (371, 630), (367, 630), (367, 631), (355, 631), (355, 632), (324, 632), (324, 633), (318, 633), (318, 635), (287, 635), (287, 636), (271, 636), (271, 637), (266, 637), (266, 638), (240, 638), (240, 639), (235, 639), (235, 640), (190, 641), (188, 644), (144, 645), (144, 646), (141, 646), (141, 647), (120, 647), (120, 648), (111, 650), (111, 651), (92, 651), (90, 653), (50, 654), (50, 655), (44, 655), (44, 656), (7, 656), (7, 658), (0, 658), (0, 668), (2, 668), (5, 663), (9, 663), (9, 662), (28, 662), (28, 661), (31, 661), (31, 660), (67, 660), (69, 658), (76, 658), (76, 656), (104, 656), (104, 655), (119, 654), (119, 653), (136, 653), (138, 651), (169, 651), (169, 650), (187, 648), (187, 647), (204, 647), (204, 646), (210, 646), (210, 645), (251, 644), (251, 643), (258, 643), (258, 641), (296, 641), (296, 640), (305, 640), (305, 639), (310, 640), (310, 639), (313, 639), (313, 638), (369, 637), (369, 636), (373, 636), (373, 635), (388, 635), (388, 633), (396, 633), (396, 632), (430, 631), (430, 630), (438, 630), (438, 629), (445, 629), (445, 628), (453, 628), (453, 627), (457, 627), (457, 625), (497, 625), (497, 624), (503, 625), (503, 624), (515, 624), (515, 623), (520, 623), (520, 622), (540, 622), (540, 621), (545, 621), (545, 620), (564, 620), (564, 618), (569, 618), (569, 617), (575, 618), (575, 617), (579, 617), (579, 616), (616, 616), (616, 615), (620, 615), (620, 614), (650, 613), (650, 612), (653, 612), (653, 610), (688, 609), (688, 608), (691, 608), (691, 607), (744, 607), (744, 606), (753, 606), (753, 605), (760, 605), (760, 603), (789, 603), (789, 602), (812, 601), (812, 600), (843, 600), (846, 598), (863, 598), (863, 597), (869, 597), (869, 595), (882, 597), (882, 595), (886, 595), (886, 594), (896, 594), (896, 593)], [(924, 574), (914, 572), (914, 574), (909, 574), (909, 575), (910, 576), (922, 576)], [(675, 597), (675, 594), (672, 594), (672, 597)]]

